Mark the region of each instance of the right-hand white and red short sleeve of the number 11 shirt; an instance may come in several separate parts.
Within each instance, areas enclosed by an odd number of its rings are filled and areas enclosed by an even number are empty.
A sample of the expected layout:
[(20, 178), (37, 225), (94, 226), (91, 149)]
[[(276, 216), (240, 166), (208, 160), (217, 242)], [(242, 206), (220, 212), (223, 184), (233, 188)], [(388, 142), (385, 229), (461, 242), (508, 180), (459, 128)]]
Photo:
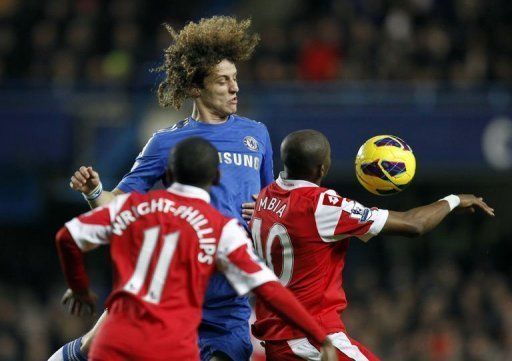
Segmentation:
[(254, 254), (247, 233), (235, 219), (222, 230), (217, 264), (239, 295), (264, 283), (277, 281), (276, 275)]

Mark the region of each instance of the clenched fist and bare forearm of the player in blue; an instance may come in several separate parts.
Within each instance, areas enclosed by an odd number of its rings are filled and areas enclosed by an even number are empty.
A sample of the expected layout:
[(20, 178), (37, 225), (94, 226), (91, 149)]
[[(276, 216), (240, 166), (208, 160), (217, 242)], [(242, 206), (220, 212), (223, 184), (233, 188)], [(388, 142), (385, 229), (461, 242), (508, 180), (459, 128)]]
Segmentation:
[(103, 190), (100, 175), (91, 166), (81, 166), (71, 176), (69, 186), (71, 189), (81, 192), (91, 208), (103, 206), (123, 194), (123, 191), (115, 188), (111, 192)]

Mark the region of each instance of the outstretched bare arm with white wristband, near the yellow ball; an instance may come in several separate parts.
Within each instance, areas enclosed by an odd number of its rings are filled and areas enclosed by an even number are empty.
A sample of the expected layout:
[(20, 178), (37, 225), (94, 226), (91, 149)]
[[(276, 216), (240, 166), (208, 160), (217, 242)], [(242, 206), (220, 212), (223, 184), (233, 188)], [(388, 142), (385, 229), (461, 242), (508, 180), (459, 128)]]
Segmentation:
[(389, 217), (380, 233), (409, 237), (421, 236), (441, 223), (453, 208), (471, 213), (479, 209), (494, 217), (494, 209), (489, 207), (481, 197), (476, 197), (473, 194), (459, 194), (446, 198), (405, 212), (389, 211)]

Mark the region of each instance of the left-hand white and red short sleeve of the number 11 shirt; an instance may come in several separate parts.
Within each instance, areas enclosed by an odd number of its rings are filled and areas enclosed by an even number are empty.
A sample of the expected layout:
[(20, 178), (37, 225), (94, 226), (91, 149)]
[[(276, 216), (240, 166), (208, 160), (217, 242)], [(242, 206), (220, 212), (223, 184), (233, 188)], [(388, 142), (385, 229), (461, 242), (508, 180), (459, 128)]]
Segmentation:
[(119, 195), (109, 204), (95, 208), (66, 223), (66, 228), (81, 250), (87, 251), (110, 243), (112, 221), (129, 196), (129, 194)]

